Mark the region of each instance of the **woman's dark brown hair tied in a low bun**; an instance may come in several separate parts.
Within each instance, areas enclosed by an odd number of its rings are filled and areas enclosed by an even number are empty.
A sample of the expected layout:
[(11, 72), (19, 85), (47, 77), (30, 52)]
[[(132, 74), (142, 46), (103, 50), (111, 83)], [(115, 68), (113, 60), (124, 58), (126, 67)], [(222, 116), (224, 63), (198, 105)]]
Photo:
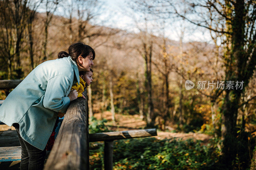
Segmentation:
[(78, 63), (78, 56), (86, 57), (92, 54), (92, 60), (95, 58), (95, 52), (92, 47), (85, 45), (83, 42), (76, 42), (68, 47), (68, 53), (66, 51), (60, 51), (58, 54), (58, 58), (71, 56), (72, 60)]

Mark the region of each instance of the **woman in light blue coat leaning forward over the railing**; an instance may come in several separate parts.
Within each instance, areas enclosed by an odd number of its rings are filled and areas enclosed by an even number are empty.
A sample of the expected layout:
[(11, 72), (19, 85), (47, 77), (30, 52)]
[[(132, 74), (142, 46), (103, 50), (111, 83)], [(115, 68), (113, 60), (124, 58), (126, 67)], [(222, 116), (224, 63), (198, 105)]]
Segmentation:
[(94, 50), (82, 42), (72, 44), (68, 53), (39, 64), (7, 96), (0, 107), (0, 121), (14, 126), (21, 145), (20, 169), (43, 169), (45, 146), (52, 133), (57, 112), (65, 113), (77, 92), (79, 71), (90, 71)]

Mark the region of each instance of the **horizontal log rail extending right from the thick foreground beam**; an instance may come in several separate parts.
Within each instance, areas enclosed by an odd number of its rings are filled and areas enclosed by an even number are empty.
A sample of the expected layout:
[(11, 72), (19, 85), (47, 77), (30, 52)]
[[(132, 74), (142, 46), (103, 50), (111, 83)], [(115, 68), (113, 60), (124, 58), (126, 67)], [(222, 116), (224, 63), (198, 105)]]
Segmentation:
[(104, 132), (89, 135), (90, 142), (111, 141), (117, 139), (129, 139), (137, 137), (157, 136), (156, 129), (128, 130), (120, 132)]

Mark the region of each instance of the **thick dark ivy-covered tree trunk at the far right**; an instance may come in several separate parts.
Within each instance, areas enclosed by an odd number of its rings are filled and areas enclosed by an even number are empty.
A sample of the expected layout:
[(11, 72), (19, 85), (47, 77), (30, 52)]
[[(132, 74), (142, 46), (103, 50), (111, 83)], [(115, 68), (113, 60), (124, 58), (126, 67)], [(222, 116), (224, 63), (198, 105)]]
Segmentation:
[[(244, 87), (248, 85), (248, 80), (250, 77), (245, 77), (245, 74), (250, 73), (251, 70), (248, 68), (244, 72), (244, 65), (246, 64), (245, 56), (244, 56), (244, 1), (236, 1), (234, 4), (234, 12), (235, 17), (232, 20), (232, 34), (231, 34), (231, 53), (229, 55), (229, 60), (227, 63), (227, 74), (226, 80), (233, 80), (241, 82), (245, 81)], [(233, 67), (233, 64), (235, 67)], [(255, 70), (255, 61), (253, 69)], [(238, 139), (237, 129), (236, 129), (236, 120), (238, 113), (238, 105), (241, 98), (241, 94), (244, 90), (234, 89), (234, 90), (225, 90), (226, 95), (224, 98), (224, 103), (221, 108), (222, 113), (222, 121), (223, 121), (223, 129), (222, 130), (222, 138), (223, 140), (223, 148), (222, 148), (222, 162), (225, 163), (228, 167), (234, 166), (234, 160), (236, 155), (238, 154)]]

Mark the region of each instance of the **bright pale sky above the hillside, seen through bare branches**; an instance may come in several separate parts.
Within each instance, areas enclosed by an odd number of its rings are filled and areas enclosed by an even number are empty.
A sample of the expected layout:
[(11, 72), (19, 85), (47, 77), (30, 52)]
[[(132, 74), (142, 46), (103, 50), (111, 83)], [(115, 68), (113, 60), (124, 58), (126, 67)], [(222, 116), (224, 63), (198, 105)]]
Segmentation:
[[(67, 0), (71, 1), (71, 0)], [(92, 24), (108, 26), (112, 28), (119, 28), (122, 30), (127, 30), (129, 32), (138, 33), (140, 28), (145, 26), (144, 21), (139, 21), (138, 18), (144, 14), (140, 12), (134, 12), (128, 8), (128, 0), (103, 0), (103, 11), (101, 15), (92, 20)], [(102, 9), (101, 9), (102, 10)], [(39, 12), (44, 12), (44, 8), (38, 10)], [(57, 15), (61, 15), (60, 9), (57, 9)], [(134, 22), (134, 18), (137, 18), (138, 24)], [(165, 37), (180, 41), (181, 30), (184, 31), (183, 42), (190, 41), (204, 41), (211, 43), (211, 37), (208, 30), (196, 27), (188, 22), (181, 21), (180, 19), (172, 19), (165, 24), (165, 29), (161, 29), (162, 24), (156, 21), (148, 21), (148, 28), (156, 36), (164, 34)]]

